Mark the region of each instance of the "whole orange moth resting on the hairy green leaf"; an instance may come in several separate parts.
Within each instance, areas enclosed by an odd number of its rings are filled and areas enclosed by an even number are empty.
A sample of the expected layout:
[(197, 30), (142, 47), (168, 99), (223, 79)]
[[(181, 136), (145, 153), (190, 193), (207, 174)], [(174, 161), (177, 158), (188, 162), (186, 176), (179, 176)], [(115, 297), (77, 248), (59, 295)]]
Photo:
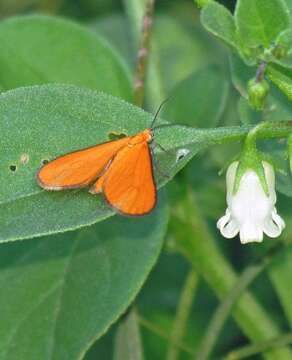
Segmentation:
[(157, 190), (153, 175), (151, 129), (60, 156), (37, 173), (46, 190), (79, 189), (102, 192), (123, 215), (145, 215), (154, 209)]

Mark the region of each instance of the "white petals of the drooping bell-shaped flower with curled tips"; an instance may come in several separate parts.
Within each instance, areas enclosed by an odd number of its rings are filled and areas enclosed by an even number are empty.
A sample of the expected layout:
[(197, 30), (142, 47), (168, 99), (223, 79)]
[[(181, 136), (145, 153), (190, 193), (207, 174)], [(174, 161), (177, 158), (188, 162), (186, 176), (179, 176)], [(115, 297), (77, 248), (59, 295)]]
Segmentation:
[(275, 207), (275, 174), (273, 167), (263, 161), (269, 195), (254, 170), (247, 169), (240, 179), (238, 191), (234, 194), (234, 182), (238, 161), (233, 162), (226, 174), (227, 210), (218, 220), (217, 228), (226, 238), (239, 233), (243, 244), (263, 241), (263, 233), (269, 237), (278, 237), (285, 228), (284, 220), (277, 214)]

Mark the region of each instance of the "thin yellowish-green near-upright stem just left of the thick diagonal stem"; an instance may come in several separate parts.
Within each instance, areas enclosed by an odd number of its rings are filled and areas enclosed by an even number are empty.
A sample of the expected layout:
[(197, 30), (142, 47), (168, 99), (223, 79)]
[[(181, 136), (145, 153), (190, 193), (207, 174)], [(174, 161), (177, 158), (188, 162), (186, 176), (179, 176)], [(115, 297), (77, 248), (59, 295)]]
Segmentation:
[(176, 344), (180, 343), (184, 337), (187, 321), (190, 317), (190, 312), (197, 289), (197, 284), (198, 275), (194, 270), (191, 270), (185, 280), (185, 284), (177, 306), (176, 316), (172, 326), (173, 330), (166, 356), (167, 360), (176, 360), (179, 357), (179, 348), (176, 346)]

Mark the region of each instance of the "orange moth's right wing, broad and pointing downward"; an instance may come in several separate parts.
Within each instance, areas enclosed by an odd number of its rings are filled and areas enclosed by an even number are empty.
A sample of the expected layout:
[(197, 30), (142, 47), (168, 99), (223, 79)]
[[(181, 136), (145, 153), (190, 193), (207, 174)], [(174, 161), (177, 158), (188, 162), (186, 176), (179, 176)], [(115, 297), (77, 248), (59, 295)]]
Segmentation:
[(145, 215), (156, 205), (156, 186), (147, 142), (121, 149), (104, 175), (108, 203), (125, 215)]

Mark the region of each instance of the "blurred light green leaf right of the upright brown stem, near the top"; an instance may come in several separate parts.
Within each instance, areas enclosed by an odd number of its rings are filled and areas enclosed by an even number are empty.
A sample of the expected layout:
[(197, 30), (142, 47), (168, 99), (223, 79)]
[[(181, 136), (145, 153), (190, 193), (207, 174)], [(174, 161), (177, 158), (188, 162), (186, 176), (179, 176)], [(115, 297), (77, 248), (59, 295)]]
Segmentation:
[[(153, 38), (156, 52), (152, 63), (157, 62), (165, 89), (166, 95), (162, 100), (179, 81), (208, 64), (214, 64), (216, 60), (222, 62), (222, 58), (225, 59), (222, 48), (199, 24), (194, 24), (193, 19), (180, 19), (179, 12), (184, 11), (177, 9), (175, 16), (157, 16), (155, 20)], [(153, 91), (153, 77), (149, 79), (148, 86)]]

